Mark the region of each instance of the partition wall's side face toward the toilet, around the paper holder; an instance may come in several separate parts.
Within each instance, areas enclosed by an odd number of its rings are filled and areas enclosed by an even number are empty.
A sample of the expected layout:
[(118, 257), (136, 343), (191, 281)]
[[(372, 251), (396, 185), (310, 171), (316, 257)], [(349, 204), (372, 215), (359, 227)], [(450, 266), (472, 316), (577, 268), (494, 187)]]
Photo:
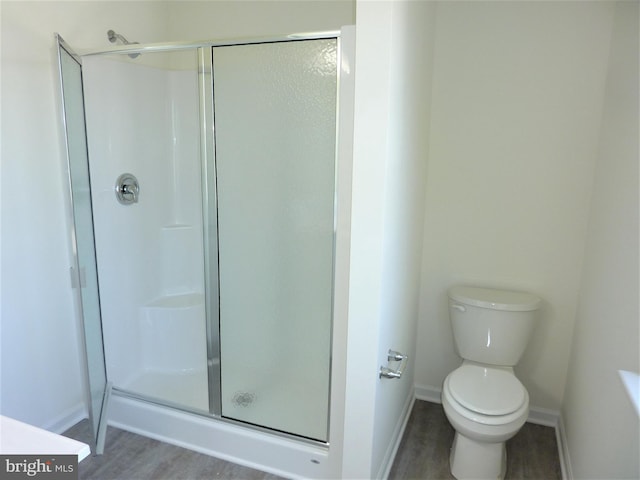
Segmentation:
[(380, 380), (377, 385), (372, 463), (377, 478), (386, 478), (383, 469), (393, 461), (398, 446), (394, 441), (399, 440), (414, 394), (423, 243), (422, 223), (415, 219), (424, 216), (434, 7), (433, 2), (396, 2), (390, 19), (377, 365), (386, 364), (390, 348), (409, 355), (410, 362), (402, 379)]

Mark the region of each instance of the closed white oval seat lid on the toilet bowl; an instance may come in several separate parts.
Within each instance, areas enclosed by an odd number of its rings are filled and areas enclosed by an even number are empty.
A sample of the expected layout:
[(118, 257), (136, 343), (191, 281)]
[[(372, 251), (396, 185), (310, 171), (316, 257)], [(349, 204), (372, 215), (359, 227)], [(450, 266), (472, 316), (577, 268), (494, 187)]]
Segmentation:
[(462, 365), (449, 374), (447, 386), (457, 403), (481, 415), (509, 415), (528, 400), (516, 376), (499, 368)]

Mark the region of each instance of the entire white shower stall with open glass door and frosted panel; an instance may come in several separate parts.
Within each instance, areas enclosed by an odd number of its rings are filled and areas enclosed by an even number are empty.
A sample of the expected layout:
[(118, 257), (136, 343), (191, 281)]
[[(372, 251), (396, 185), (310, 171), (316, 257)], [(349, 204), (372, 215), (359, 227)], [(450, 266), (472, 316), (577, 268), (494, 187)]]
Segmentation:
[(98, 449), (109, 422), (330, 476), (352, 37), (58, 37)]

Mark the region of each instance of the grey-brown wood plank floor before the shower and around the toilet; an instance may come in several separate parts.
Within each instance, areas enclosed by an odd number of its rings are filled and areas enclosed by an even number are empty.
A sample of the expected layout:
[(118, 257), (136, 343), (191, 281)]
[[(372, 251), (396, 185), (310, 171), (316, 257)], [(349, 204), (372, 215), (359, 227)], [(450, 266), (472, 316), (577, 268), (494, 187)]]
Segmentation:
[[(89, 422), (82, 421), (64, 434), (90, 443)], [(416, 401), (389, 478), (452, 479), (449, 447), (453, 434), (441, 405)], [(78, 470), (80, 480), (280, 478), (113, 427), (107, 429), (104, 455), (86, 458)], [(506, 478), (562, 478), (553, 428), (527, 423), (507, 442)]]

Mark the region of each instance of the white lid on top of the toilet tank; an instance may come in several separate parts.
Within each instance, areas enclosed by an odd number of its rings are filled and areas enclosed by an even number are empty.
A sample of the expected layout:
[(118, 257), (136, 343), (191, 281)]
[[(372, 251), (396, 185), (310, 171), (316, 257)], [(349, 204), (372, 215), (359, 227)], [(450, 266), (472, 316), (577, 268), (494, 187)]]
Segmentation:
[(465, 305), (511, 312), (537, 310), (542, 303), (540, 297), (530, 293), (461, 285), (449, 289), (449, 298)]

